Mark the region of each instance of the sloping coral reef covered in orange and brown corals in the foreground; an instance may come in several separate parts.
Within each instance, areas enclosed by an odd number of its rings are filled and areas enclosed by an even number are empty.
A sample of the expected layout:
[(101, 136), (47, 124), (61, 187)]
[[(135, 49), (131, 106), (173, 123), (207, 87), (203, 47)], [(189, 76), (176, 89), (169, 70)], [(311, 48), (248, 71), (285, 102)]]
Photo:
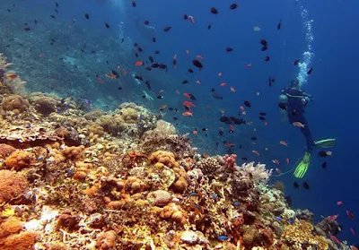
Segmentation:
[(313, 227), (264, 164), (201, 155), (135, 103), (15, 91), (9, 66), (0, 55), (1, 249), (337, 249), (337, 221)]

